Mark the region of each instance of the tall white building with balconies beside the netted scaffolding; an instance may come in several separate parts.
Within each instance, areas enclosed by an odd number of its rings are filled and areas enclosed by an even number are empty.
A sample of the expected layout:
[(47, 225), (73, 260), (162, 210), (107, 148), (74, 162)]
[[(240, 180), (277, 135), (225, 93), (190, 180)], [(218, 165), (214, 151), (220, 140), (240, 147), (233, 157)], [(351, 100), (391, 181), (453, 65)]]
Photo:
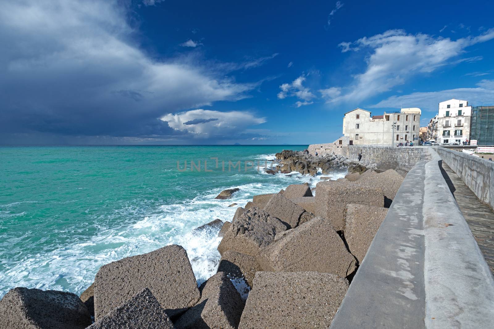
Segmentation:
[(472, 106), (468, 101), (450, 99), (439, 103), (438, 143), (459, 143), (470, 140)]

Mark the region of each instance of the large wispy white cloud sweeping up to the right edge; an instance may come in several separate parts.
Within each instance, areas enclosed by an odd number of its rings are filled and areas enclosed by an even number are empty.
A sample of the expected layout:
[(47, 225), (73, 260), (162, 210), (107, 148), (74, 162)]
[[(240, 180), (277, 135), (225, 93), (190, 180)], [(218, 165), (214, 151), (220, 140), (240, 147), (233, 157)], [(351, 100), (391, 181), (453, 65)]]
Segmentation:
[(341, 88), (341, 95), (329, 102), (361, 101), (404, 84), (416, 74), (427, 74), (441, 66), (481, 59), (471, 57), (452, 60), (465, 48), (494, 38), (494, 29), (475, 37), (457, 40), (427, 34), (407, 34), (403, 30), (389, 30), (354, 42), (342, 42), (342, 52), (370, 49), (364, 73), (354, 75), (352, 84)]

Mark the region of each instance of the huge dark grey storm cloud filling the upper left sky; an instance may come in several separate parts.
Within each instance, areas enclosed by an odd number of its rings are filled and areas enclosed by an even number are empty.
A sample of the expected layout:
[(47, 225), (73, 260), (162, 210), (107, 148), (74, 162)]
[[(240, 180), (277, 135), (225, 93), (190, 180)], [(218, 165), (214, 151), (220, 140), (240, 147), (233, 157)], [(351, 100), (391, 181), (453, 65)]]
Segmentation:
[(0, 143), (9, 134), (191, 138), (158, 118), (255, 87), (193, 60), (151, 59), (119, 3), (0, 2)]

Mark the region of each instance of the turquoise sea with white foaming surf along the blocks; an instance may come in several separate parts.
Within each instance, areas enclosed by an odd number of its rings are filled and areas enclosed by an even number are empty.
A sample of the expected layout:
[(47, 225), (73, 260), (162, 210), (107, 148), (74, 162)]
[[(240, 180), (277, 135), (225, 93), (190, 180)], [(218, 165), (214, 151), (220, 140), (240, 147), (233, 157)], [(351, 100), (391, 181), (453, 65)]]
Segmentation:
[[(244, 206), (253, 195), (318, 181), (246, 170), (245, 161), (263, 167), (276, 152), (306, 147), (1, 147), (0, 297), (19, 286), (80, 294), (100, 266), (168, 244), (187, 250), (201, 283), (215, 273), (220, 238), (194, 228), (231, 221), (233, 202)], [(217, 168), (210, 158), (218, 158)], [(201, 171), (191, 171), (191, 161), (201, 161)], [(228, 161), (241, 161), (241, 170), (229, 171)], [(233, 198), (214, 199), (234, 187)]]

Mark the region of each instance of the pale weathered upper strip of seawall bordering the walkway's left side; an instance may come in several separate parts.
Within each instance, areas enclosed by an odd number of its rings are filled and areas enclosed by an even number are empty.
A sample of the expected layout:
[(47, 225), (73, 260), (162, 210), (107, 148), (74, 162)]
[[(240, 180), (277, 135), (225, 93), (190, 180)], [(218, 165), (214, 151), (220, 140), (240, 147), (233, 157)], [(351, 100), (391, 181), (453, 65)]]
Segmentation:
[(441, 175), (441, 158), (430, 152), (423, 206), (425, 326), (492, 328), (494, 278)]

